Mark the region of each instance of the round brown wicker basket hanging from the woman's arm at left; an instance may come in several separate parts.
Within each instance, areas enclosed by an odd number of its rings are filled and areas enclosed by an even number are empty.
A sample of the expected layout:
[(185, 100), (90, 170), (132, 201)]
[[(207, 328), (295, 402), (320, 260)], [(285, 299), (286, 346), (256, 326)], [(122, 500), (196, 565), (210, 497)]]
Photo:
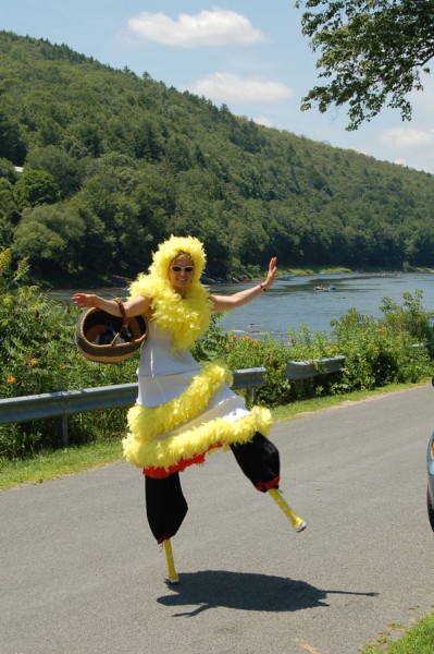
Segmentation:
[(100, 308), (89, 308), (79, 318), (75, 330), (78, 352), (89, 361), (117, 363), (140, 349), (148, 336), (148, 323), (141, 315), (112, 316)]

